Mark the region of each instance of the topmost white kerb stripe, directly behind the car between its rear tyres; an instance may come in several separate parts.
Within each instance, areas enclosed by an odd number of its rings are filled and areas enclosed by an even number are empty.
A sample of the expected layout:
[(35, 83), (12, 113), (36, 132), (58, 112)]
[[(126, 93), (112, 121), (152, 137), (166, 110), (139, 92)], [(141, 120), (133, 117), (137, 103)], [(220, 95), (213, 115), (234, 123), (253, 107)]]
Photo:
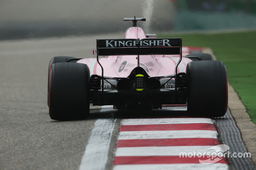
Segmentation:
[(144, 124), (180, 124), (180, 123), (214, 123), (210, 118), (154, 118), (154, 119), (124, 119), (123, 125)]

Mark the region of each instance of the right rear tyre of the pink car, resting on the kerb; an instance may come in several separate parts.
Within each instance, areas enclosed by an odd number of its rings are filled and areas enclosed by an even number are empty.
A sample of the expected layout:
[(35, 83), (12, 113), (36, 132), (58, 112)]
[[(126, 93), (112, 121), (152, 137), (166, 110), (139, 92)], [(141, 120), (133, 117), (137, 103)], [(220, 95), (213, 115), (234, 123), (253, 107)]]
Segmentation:
[(188, 114), (221, 117), (227, 112), (227, 71), (220, 61), (195, 61), (187, 65)]

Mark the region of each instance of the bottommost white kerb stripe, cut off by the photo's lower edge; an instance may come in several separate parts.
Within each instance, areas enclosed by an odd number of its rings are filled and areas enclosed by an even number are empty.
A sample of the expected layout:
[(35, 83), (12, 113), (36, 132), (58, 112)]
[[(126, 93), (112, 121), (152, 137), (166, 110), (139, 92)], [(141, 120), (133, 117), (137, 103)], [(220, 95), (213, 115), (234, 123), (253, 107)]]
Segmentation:
[(228, 164), (214, 163), (211, 165), (202, 164), (137, 164), (137, 165), (116, 165), (113, 170), (227, 170)]

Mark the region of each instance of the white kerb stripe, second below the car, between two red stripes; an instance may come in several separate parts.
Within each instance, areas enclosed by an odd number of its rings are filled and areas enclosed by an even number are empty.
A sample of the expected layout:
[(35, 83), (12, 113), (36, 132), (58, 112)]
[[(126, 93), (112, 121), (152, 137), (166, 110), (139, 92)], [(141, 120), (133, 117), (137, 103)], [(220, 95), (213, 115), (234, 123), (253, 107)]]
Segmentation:
[(124, 139), (168, 139), (168, 138), (218, 138), (213, 130), (158, 130), (121, 131), (118, 140)]

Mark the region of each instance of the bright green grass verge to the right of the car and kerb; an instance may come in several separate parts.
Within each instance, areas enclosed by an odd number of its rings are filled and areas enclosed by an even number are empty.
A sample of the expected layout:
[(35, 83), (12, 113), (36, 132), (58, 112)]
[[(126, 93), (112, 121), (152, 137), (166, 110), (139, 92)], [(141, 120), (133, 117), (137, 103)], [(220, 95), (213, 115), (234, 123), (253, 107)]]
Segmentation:
[(256, 31), (218, 34), (160, 34), (181, 37), (183, 46), (209, 47), (227, 67), (233, 86), (252, 122), (256, 124)]

